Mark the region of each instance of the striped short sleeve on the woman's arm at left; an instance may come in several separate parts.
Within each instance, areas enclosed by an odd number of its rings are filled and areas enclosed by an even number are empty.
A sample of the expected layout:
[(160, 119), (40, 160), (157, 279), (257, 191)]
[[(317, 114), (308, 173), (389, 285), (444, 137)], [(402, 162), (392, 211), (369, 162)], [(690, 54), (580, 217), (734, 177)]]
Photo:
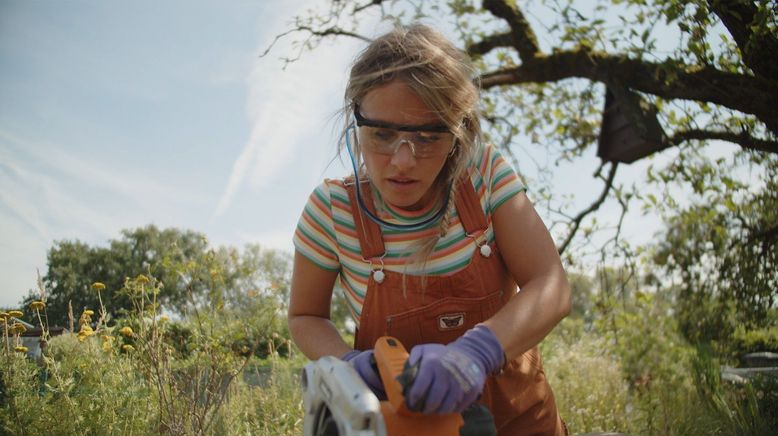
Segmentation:
[(327, 181), (316, 187), (308, 197), (293, 241), (295, 249), (311, 262), (329, 271), (340, 270)]

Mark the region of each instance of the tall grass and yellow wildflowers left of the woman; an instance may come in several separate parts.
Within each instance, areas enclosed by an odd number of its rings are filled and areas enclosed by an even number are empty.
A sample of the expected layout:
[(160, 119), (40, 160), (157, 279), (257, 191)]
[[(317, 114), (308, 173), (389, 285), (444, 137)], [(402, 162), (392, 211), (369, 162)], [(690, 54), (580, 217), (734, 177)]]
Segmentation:
[[(299, 434), (302, 362), (279, 355), (291, 345), (276, 333), (276, 308), (173, 322), (158, 313), (159, 288), (153, 278), (128, 279), (134, 309), (111, 320), (101, 308), (96, 323), (86, 310), (78, 333), (51, 338), (40, 321), (46, 346), (37, 362), (15, 350), (18, 334), (6, 335), (0, 433)], [(247, 368), (261, 369), (262, 383), (247, 383)]]

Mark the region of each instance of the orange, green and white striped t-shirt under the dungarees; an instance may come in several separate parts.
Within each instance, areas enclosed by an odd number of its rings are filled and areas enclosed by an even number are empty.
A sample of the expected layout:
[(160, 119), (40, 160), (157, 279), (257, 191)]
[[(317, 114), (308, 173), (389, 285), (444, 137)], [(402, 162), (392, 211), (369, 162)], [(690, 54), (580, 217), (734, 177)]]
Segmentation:
[[(491, 243), (494, 241), (492, 211), (508, 198), (525, 190), (525, 187), (499, 150), (491, 145), (480, 147), (474, 164), (477, 170), (471, 171), (470, 180), (486, 214), (489, 224), (486, 240)], [(381, 196), (375, 189), (373, 196), (376, 203), (381, 202)], [(423, 221), (437, 213), (440, 207), (434, 205), (410, 212), (385, 203), (382, 206), (377, 208), (382, 211), (381, 218), (396, 224)], [(313, 191), (305, 205), (297, 223), (294, 246), (299, 253), (321, 268), (340, 272), (340, 283), (345, 291), (351, 315), (358, 326), (371, 268), (370, 264), (362, 259), (351, 208), (343, 180), (325, 180)], [(463, 269), (476, 248), (473, 239), (466, 237), (456, 212), (449, 222), (446, 236), (438, 240), (432, 254), (424, 263), (424, 273), (427, 275), (450, 275)], [(439, 231), (439, 223), (434, 222), (415, 231), (399, 231), (382, 226), (381, 231), (386, 249), (383, 258), (384, 269), (411, 275), (421, 274), (419, 262), (412, 262), (407, 266), (406, 262), (413, 255), (413, 250), (417, 249), (419, 240)]]

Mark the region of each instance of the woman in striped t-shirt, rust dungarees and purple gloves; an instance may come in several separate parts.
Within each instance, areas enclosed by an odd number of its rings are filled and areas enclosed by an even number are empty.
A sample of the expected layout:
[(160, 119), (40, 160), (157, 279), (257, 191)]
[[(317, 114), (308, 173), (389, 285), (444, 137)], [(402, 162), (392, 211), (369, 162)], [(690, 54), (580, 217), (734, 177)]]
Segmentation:
[[(472, 75), (423, 25), (357, 58), (342, 141), (354, 174), (317, 187), (298, 223), (289, 327), (306, 356), (351, 362), (379, 397), (372, 347), (391, 335), (418, 367), (409, 407), (478, 401), (501, 435), (563, 434), (537, 344), (570, 311), (569, 285), (516, 173), (480, 141)], [(338, 279), (353, 349), (330, 321)]]

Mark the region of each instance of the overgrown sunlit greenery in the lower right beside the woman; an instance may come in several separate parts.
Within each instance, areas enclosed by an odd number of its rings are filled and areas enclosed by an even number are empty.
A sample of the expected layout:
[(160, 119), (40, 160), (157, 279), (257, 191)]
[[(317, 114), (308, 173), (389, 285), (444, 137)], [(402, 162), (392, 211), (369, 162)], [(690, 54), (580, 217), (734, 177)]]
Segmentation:
[(722, 383), (718, 364), (700, 365), (661, 296), (637, 292), (601, 301), (599, 311), (591, 325), (563, 320), (541, 343), (571, 433), (769, 434), (765, 429), (775, 428), (775, 379)]

